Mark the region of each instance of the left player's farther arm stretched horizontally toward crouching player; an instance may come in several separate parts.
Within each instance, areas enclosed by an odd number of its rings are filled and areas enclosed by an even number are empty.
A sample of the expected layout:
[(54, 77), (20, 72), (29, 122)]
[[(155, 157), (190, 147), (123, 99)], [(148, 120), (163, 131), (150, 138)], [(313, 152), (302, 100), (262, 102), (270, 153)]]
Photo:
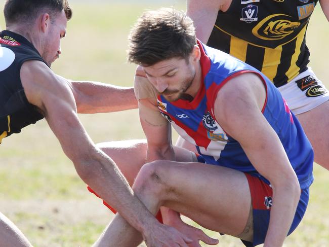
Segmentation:
[(133, 87), (62, 79), (69, 84), (73, 92), (78, 113), (118, 112), (138, 107)]

